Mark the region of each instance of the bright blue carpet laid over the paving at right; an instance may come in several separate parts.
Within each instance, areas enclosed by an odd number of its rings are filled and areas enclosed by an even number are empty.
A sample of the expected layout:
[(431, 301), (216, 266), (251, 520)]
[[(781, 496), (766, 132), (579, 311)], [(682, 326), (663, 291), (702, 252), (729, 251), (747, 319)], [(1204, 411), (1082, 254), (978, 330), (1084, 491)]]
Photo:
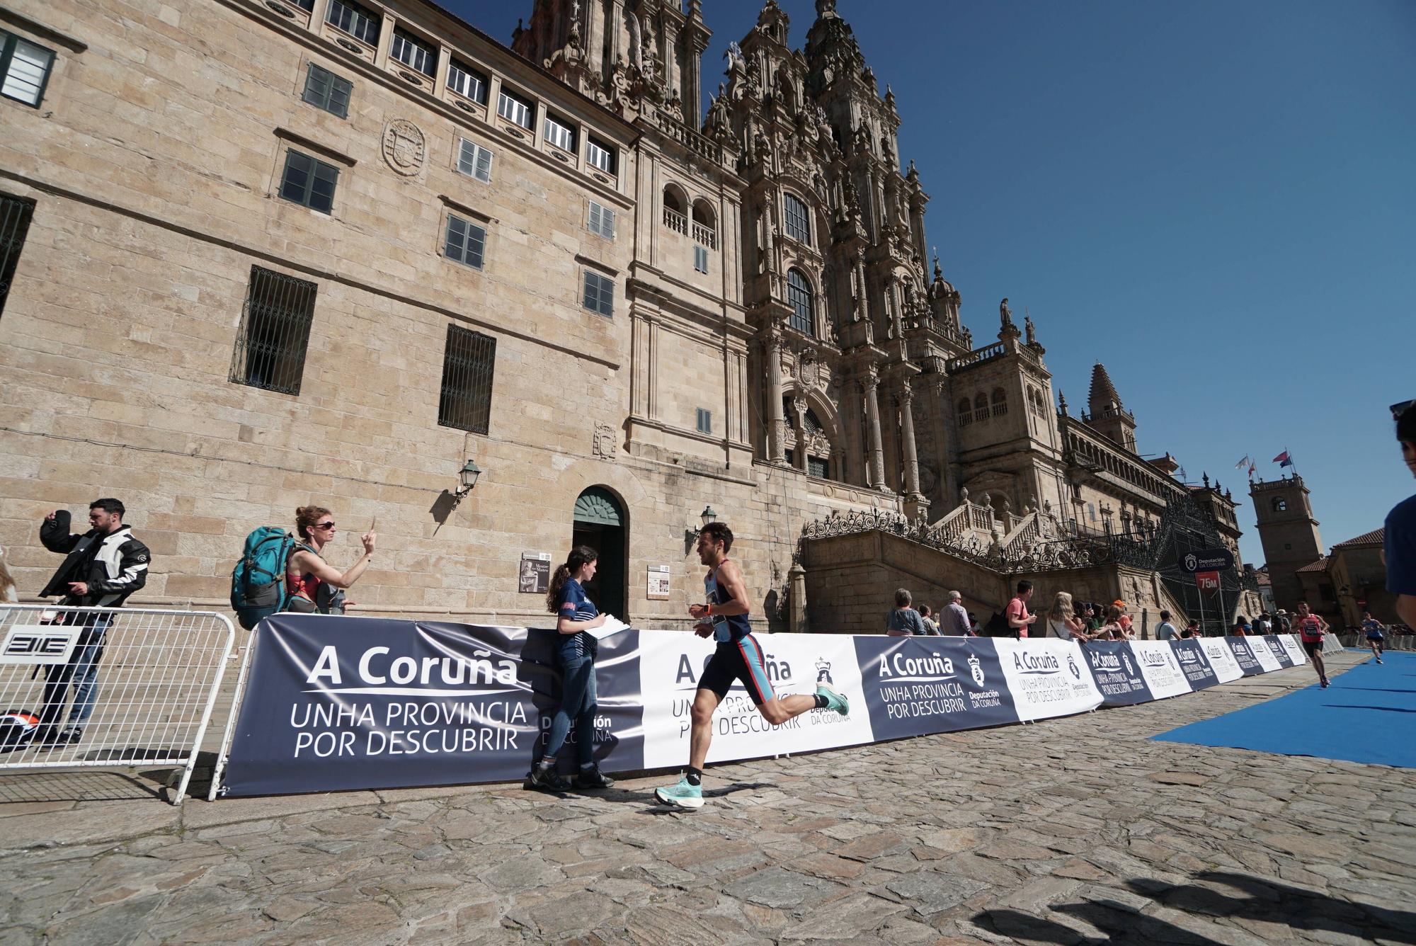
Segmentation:
[[(1416, 769), (1416, 654), (1386, 653), (1286, 697), (1153, 739)], [(1308, 668), (1307, 673), (1311, 673)]]

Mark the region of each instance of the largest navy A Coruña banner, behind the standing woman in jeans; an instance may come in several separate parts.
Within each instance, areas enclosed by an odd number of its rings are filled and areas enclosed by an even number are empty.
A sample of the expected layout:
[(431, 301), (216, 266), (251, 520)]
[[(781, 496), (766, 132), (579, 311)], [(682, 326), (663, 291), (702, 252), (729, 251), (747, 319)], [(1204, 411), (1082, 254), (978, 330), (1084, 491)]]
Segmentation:
[[(643, 768), (634, 637), (600, 644), (590, 738), (607, 769)], [(559, 702), (558, 643), (524, 627), (269, 617), (255, 632), (228, 793), (520, 779)]]

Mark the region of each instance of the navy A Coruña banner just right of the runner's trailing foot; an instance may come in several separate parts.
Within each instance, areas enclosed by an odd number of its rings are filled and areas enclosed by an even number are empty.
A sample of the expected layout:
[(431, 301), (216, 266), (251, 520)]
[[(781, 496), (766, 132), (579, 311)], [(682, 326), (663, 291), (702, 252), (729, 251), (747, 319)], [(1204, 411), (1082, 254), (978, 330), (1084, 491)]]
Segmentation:
[(1017, 722), (988, 637), (855, 637), (875, 739)]

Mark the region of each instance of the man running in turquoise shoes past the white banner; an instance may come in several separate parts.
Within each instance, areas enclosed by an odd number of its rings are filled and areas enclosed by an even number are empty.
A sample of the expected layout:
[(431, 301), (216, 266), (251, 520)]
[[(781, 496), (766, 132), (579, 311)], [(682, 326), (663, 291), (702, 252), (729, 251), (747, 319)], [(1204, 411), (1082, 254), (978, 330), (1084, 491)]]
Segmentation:
[(704, 676), (698, 681), (691, 712), (688, 742), (688, 772), (678, 785), (654, 789), (654, 797), (664, 804), (680, 809), (701, 809), (704, 806), (704, 762), (708, 759), (708, 743), (712, 742), (712, 711), (718, 708), (733, 681), (741, 680), (758, 705), (762, 718), (775, 726), (809, 710), (834, 710), (843, 717), (851, 711), (850, 701), (826, 685), (816, 685), (816, 695), (779, 697), (772, 691), (766, 667), (762, 666), (762, 647), (752, 636), (748, 623), (748, 586), (742, 582), (742, 569), (728, 561), (732, 548), (732, 530), (726, 523), (708, 523), (698, 534), (698, 561), (708, 566), (704, 576), (707, 603), (690, 605), (688, 613), (698, 625), (694, 633), (700, 637), (712, 636), (718, 642)]

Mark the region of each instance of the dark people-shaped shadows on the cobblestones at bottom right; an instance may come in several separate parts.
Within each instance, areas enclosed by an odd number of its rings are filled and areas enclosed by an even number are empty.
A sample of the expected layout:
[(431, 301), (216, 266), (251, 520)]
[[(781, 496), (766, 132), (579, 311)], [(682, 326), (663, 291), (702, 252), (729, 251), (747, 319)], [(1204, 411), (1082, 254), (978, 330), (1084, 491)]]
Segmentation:
[[(1197, 874), (1192, 881), (1167, 884), (1155, 879), (1130, 879), (1126, 881), (1126, 887), (1163, 906), (1191, 915), (1259, 921), (1294, 930), (1416, 945), (1413, 912), (1354, 904), (1279, 881), (1225, 871)], [(1240, 895), (1223, 894), (1214, 885), (1228, 887)], [(1228, 938), (1211, 939), (1164, 919), (1140, 915), (1134, 906), (1106, 899), (1058, 904), (1051, 912), (1079, 919), (1104, 933), (1104, 938), (1086, 935), (1075, 926), (1014, 909), (983, 911), (974, 915), (973, 921), (1003, 936), (1066, 946), (1080, 943), (1219, 946), (1228, 942)], [(1218, 928), (1215, 935), (1222, 936), (1223, 930), (1225, 928)]]

